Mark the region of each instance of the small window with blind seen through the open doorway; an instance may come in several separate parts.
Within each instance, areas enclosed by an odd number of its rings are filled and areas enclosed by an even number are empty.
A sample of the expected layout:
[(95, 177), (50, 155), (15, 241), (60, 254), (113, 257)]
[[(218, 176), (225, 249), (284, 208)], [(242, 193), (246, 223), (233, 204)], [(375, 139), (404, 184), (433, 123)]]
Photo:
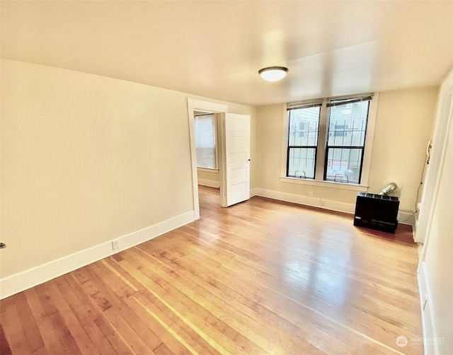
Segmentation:
[(217, 169), (214, 114), (195, 115), (197, 168)]

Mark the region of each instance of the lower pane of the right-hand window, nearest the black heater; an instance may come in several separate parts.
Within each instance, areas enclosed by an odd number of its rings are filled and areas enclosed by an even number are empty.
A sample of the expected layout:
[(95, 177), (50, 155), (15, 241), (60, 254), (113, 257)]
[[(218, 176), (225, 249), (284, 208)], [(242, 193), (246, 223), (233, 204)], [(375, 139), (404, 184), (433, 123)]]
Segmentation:
[(328, 148), (326, 180), (360, 182), (360, 165), (363, 149)]

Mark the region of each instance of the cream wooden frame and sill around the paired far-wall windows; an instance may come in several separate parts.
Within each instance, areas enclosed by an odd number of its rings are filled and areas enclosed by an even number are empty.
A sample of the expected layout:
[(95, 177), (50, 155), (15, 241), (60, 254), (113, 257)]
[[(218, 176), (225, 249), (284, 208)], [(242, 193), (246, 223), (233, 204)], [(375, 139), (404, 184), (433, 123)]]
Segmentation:
[(350, 182), (336, 182), (323, 180), (324, 171), (326, 165), (326, 144), (327, 144), (327, 134), (328, 134), (328, 107), (327, 103), (331, 100), (348, 100), (361, 98), (365, 96), (370, 96), (370, 94), (365, 95), (345, 95), (336, 98), (324, 98), (321, 105), (321, 115), (319, 118), (319, 132), (318, 132), (318, 148), (316, 155), (316, 173), (315, 178), (313, 179), (304, 179), (304, 178), (292, 178), (287, 176), (287, 146), (288, 146), (288, 132), (289, 132), (289, 115), (287, 115), (287, 107), (292, 104), (283, 105), (283, 112), (285, 119), (283, 120), (283, 139), (282, 139), (282, 161), (281, 161), (281, 171), (280, 171), (280, 182), (300, 184), (300, 185), (311, 185), (311, 186), (321, 186), (321, 187), (332, 187), (341, 190), (354, 190), (357, 192), (366, 192), (369, 187), (369, 169), (371, 167), (371, 157), (372, 157), (372, 147), (374, 141), (374, 128), (376, 125), (377, 117), (377, 105), (379, 103), (379, 93), (372, 94), (372, 100), (369, 101), (368, 107), (368, 120), (366, 128), (366, 138), (365, 146), (363, 148), (363, 157), (362, 157), (362, 170), (360, 176), (360, 183), (350, 183)]

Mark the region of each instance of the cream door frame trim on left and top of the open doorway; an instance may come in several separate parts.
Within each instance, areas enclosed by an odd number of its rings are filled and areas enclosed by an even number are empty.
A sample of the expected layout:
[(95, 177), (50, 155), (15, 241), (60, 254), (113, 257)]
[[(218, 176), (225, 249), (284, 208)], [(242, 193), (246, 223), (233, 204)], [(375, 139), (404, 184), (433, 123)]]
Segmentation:
[(189, 121), (190, 160), (192, 163), (193, 211), (195, 220), (197, 220), (200, 219), (200, 201), (198, 199), (197, 149), (195, 147), (195, 115), (193, 112), (202, 111), (224, 113), (228, 111), (228, 105), (224, 105), (222, 103), (212, 103), (210, 101), (204, 100), (197, 100), (195, 98), (188, 98), (187, 109)]

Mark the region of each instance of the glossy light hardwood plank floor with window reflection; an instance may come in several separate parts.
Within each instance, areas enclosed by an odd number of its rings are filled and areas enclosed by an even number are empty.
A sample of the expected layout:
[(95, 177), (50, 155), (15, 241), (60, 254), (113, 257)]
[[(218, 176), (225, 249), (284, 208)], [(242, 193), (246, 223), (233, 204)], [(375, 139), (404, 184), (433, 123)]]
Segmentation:
[[(0, 302), (4, 354), (423, 354), (411, 230), (253, 197)], [(406, 347), (396, 338), (407, 337)]]

